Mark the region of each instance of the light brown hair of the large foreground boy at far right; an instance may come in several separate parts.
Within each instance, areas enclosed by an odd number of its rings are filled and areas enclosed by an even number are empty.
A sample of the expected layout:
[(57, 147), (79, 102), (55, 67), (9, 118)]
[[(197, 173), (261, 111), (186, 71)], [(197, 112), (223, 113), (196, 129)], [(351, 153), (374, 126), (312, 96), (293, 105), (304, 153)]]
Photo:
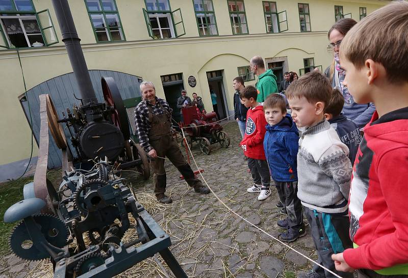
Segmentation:
[(363, 18), (344, 37), (342, 58), (361, 69), (367, 59), (385, 67), (389, 82), (408, 81), (408, 3), (393, 2)]

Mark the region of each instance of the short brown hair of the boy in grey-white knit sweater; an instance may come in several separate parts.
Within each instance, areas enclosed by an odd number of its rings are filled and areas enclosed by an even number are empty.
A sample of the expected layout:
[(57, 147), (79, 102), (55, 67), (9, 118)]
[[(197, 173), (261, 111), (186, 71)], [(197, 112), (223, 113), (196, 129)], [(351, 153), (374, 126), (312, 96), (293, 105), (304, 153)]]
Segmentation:
[(320, 72), (312, 71), (293, 81), (285, 93), (288, 99), (304, 96), (311, 104), (322, 102), (326, 105), (331, 97), (331, 90), (328, 79)]

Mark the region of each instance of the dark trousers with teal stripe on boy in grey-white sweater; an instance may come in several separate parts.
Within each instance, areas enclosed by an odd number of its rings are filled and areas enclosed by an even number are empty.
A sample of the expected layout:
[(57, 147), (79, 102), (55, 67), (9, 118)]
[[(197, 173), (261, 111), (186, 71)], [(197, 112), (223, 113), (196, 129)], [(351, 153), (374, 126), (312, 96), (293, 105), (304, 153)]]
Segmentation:
[[(344, 249), (353, 247), (348, 233), (350, 222), (347, 215), (338, 216), (321, 213), (306, 207), (304, 208), (304, 213), (308, 218), (312, 238), (316, 245), (317, 263), (343, 278), (352, 278), (352, 273), (337, 271), (335, 262), (331, 260), (332, 254), (341, 253)], [(314, 265), (313, 270), (321, 277), (336, 277), (318, 265)]]

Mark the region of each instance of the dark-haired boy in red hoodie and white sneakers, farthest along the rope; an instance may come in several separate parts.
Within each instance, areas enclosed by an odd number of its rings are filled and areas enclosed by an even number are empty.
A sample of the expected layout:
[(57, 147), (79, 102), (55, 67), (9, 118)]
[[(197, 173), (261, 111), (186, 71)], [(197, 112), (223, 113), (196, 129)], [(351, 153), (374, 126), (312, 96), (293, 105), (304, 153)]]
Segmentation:
[(257, 103), (258, 91), (253, 86), (247, 86), (240, 92), (243, 105), (249, 108), (246, 113), (246, 127), (244, 139), (240, 145), (244, 155), (248, 158), (248, 167), (251, 171), (253, 186), (248, 188), (250, 193), (259, 193), (258, 200), (265, 200), (271, 195), (269, 184), (271, 176), (268, 162), (264, 153), (264, 137), (266, 120), (264, 108)]

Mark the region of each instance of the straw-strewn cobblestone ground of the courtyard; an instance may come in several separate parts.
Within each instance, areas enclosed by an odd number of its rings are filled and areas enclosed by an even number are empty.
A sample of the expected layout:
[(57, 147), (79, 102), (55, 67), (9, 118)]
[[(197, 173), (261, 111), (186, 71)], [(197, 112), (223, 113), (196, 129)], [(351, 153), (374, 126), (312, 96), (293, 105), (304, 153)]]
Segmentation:
[[(271, 187), (272, 195), (264, 201), (258, 201), (258, 194), (246, 192), (252, 180), (238, 146), (241, 140), (238, 125), (229, 122), (224, 130), (231, 138), (228, 148), (213, 145), (211, 154), (206, 156), (193, 143), (197, 164), (204, 169), (203, 175), (214, 192), (228, 206), (277, 237), (283, 230), (278, 228), (276, 221), (285, 216), (275, 207), (278, 200), (276, 189)], [(193, 162), (192, 168), (196, 169)], [(194, 193), (179, 179), (179, 173), (168, 161), (166, 171), (167, 193), (174, 200), (170, 205), (159, 205), (154, 200), (151, 179), (140, 182), (131, 172), (127, 178), (136, 195), (142, 196), (140, 203), (171, 236), (170, 250), (189, 277), (292, 278), (310, 269), (307, 259), (236, 218), (211, 193)], [(317, 259), (308, 227), (307, 232), (307, 236), (289, 245)], [(164, 263), (164, 268), (159, 267), (160, 261), (157, 258), (145, 261), (118, 277), (166, 277), (164, 269), (172, 276)], [(0, 262), (0, 278), (25, 276), (52, 277), (52, 268), (49, 263), (25, 262), (14, 255), (5, 256)]]

